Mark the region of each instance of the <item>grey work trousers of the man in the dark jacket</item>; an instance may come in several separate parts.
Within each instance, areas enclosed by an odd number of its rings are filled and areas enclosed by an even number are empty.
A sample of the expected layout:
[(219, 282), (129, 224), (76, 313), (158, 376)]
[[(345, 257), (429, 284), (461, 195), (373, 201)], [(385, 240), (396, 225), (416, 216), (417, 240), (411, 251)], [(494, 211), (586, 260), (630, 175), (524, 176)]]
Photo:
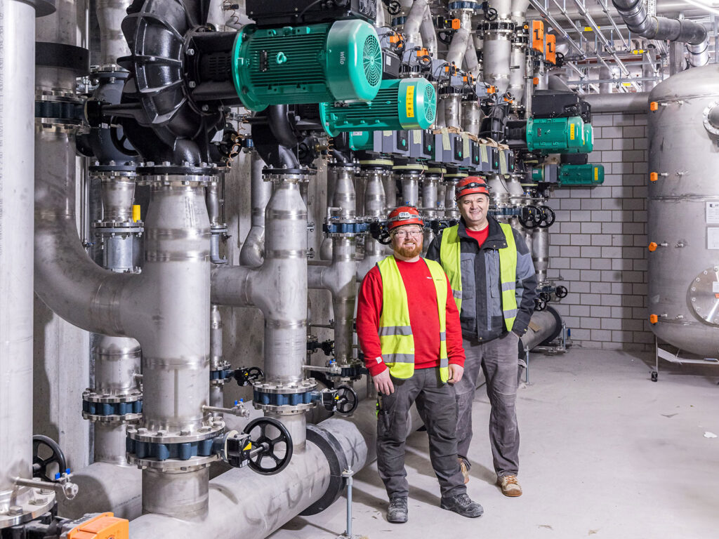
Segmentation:
[(454, 387), (457, 393), (457, 453), (467, 460), (472, 442), (472, 400), (475, 397), (480, 368), (487, 379), (490, 400), (490, 446), (498, 476), (517, 475), (519, 471), (519, 428), (516, 400), (519, 337), (509, 331), (491, 341), (462, 339), (464, 377)]

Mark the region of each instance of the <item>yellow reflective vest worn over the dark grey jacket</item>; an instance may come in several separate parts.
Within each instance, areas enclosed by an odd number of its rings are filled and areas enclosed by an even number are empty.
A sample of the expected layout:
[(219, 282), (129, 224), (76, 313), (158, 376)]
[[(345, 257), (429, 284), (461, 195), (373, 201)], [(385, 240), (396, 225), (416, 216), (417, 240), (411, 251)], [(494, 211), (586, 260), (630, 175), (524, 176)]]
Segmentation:
[[(517, 244), (514, 241), (512, 227), (500, 223), (507, 240), (507, 247), (499, 250), (500, 283), (502, 286), (502, 313), (507, 331), (512, 331), (517, 318)], [(462, 312), (462, 247), (459, 243), (459, 225), (450, 226), (442, 231), (439, 244), (439, 262), (449, 277), (449, 285), (454, 290), (454, 301)]]

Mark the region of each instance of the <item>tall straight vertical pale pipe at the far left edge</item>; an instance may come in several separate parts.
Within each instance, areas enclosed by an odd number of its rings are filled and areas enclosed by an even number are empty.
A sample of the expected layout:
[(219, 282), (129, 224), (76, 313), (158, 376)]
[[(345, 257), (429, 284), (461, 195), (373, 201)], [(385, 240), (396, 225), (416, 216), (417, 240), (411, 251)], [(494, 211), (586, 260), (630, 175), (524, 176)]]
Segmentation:
[(14, 478), (32, 477), (34, 34), (31, 4), (0, 4), (0, 528), (32, 492), (11, 500)]

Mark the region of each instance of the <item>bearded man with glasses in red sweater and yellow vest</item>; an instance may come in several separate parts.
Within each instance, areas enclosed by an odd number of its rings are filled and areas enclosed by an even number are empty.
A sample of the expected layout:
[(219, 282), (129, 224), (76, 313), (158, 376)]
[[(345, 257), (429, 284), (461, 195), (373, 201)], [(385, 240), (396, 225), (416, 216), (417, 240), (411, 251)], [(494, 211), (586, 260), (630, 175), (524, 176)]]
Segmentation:
[(483, 512), (467, 496), (457, 461), (452, 384), (464, 371), (459, 313), (444, 271), (419, 256), (423, 226), (411, 206), (390, 213), (394, 254), (367, 272), (357, 303), (357, 337), (377, 390), (377, 471), (390, 499), (389, 522), (408, 520), (404, 456), (415, 401), (429, 436), (440, 507), (463, 517)]

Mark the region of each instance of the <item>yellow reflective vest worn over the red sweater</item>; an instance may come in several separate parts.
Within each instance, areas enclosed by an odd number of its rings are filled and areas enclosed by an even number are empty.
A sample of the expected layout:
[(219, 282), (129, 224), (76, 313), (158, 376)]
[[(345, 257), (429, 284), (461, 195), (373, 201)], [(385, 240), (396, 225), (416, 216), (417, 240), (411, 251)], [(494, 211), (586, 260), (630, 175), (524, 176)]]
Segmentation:
[[(449, 379), (446, 345), (447, 280), (444, 270), (434, 260), (423, 259), (429, 268), (437, 294), (439, 314), (439, 378)], [(395, 378), (411, 378), (414, 374), (414, 337), (409, 318), (407, 290), (395, 262), (389, 256), (377, 262), (382, 277), (382, 314), (380, 315), (380, 346), (382, 357)]]

